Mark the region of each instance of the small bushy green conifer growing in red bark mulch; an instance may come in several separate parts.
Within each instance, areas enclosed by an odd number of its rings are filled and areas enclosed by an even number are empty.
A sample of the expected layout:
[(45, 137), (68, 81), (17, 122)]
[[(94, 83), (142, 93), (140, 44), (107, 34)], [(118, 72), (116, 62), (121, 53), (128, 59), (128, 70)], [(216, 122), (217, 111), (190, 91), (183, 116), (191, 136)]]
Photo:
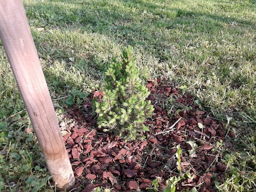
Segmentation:
[(142, 85), (134, 61), (129, 46), (123, 51), (121, 62), (114, 60), (106, 71), (102, 102), (95, 103), (99, 127), (126, 141), (143, 138), (140, 133), (148, 131), (143, 122), (153, 112), (153, 106), (146, 100), (150, 93)]

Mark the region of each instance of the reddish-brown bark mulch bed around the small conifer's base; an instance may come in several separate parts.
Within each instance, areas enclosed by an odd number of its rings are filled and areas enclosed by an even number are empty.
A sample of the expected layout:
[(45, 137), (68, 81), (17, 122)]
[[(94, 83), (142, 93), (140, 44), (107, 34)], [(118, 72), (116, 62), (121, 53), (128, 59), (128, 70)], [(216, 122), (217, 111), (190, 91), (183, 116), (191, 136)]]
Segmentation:
[[(214, 181), (222, 182), (227, 166), (220, 163), (215, 146), (217, 141), (225, 141), (221, 122), (199, 109), (192, 95), (182, 94), (169, 82), (151, 80), (147, 87), (155, 110), (145, 121), (150, 127), (144, 134), (146, 140), (125, 142), (98, 129), (91, 102), (67, 109), (60, 126), (76, 177), (76, 191), (92, 191), (99, 186), (111, 191), (147, 191), (156, 178), (158, 190), (163, 191), (167, 179), (180, 175), (175, 156), (178, 145), (182, 149), (182, 173), (189, 177), (177, 184), (176, 191), (193, 187), (214, 191)], [(100, 99), (102, 92), (94, 92), (95, 96)], [(167, 111), (170, 101), (174, 107)]]

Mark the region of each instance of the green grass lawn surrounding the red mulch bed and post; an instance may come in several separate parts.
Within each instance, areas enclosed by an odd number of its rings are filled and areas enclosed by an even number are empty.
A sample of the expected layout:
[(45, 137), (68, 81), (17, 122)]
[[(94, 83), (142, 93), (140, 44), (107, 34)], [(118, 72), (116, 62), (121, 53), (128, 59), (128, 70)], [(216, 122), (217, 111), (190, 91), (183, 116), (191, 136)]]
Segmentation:
[[(133, 47), (143, 81), (187, 87), (225, 123), (230, 174), (222, 191), (256, 189), (255, 0), (24, 0), (47, 84), (58, 108), (100, 89), (103, 72)], [(0, 43), (0, 191), (54, 191)]]

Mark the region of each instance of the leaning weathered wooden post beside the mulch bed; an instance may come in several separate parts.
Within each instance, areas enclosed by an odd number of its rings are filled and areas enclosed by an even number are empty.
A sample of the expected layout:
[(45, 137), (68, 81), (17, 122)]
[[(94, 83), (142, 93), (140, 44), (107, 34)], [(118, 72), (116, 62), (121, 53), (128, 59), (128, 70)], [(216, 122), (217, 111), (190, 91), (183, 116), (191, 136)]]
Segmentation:
[(21, 0), (0, 0), (0, 38), (57, 188), (69, 190), (74, 173)]

